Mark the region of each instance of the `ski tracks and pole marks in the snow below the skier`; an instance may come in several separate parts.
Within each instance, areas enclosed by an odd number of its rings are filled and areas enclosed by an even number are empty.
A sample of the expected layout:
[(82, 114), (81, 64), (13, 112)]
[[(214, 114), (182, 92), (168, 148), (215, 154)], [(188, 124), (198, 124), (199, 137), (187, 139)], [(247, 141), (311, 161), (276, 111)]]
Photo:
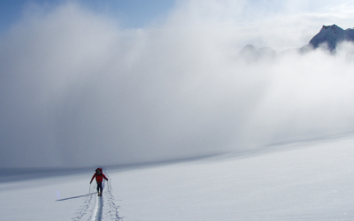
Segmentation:
[[(111, 177), (104, 172), (105, 176), (111, 180)], [(112, 185), (111, 181), (107, 182), (107, 185), (105, 185), (105, 181), (103, 183), (103, 194), (102, 196), (97, 196), (96, 193), (92, 193), (92, 191), (96, 190), (96, 185), (93, 185), (92, 187), (90, 186), (89, 189), (89, 195), (86, 197), (86, 199), (83, 202), (83, 206), (81, 206), (81, 209), (76, 212), (77, 216), (73, 218), (74, 221), (80, 221), (80, 220), (90, 220), (90, 221), (101, 221), (103, 219), (108, 218), (109, 220), (123, 220), (123, 217), (119, 217), (119, 206), (116, 205), (114, 202), (114, 196), (112, 194)], [(105, 188), (105, 186), (107, 186)], [(106, 206), (104, 206), (106, 205)], [(89, 210), (91, 208), (91, 210)], [(86, 217), (85, 215), (89, 215), (89, 219), (84, 219), (83, 217)], [(104, 216), (108, 215), (108, 216)], [(104, 218), (105, 217), (105, 218)]]

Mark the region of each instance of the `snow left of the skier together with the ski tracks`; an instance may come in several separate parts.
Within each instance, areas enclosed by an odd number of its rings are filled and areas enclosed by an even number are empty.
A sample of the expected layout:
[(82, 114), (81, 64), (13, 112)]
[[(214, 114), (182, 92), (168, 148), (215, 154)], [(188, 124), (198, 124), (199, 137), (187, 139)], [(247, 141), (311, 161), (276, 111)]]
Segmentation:
[(119, 220), (111, 184), (102, 198), (89, 189), (93, 173), (0, 184), (1, 220)]

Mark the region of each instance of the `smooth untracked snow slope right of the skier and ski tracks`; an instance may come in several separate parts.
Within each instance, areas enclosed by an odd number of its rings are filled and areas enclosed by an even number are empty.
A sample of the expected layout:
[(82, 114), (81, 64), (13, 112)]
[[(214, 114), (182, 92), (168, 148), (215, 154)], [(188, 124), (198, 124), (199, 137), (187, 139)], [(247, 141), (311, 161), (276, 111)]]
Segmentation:
[(354, 139), (112, 175), (124, 220), (354, 220)]

